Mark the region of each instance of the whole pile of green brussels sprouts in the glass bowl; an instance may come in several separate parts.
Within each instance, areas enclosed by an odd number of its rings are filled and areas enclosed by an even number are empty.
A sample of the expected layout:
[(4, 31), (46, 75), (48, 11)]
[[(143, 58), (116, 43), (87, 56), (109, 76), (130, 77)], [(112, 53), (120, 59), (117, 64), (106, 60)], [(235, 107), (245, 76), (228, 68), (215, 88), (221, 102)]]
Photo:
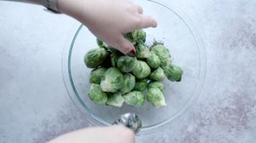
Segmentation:
[(148, 48), (144, 30), (125, 35), (136, 48), (135, 57), (122, 54), (97, 39), (98, 48), (85, 54), (85, 65), (93, 68), (88, 95), (97, 105), (139, 107), (150, 102), (155, 107), (166, 106), (163, 81), (181, 81), (182, 69), (172, 64), (171, 54), (163, 44)]

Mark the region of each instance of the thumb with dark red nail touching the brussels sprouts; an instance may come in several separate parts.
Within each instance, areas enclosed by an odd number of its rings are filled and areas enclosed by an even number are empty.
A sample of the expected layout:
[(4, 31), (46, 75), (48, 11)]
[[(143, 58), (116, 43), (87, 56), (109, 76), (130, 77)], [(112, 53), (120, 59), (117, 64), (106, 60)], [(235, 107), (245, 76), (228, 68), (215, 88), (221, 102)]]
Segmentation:
[(124, 38), (123, 36), (120, 37), (120, 40), (117, 45), (117, 49), (120, 52), (123, 52), (123, 54), (128, 54), (130, 52), (135, 54), (135, 52), (136, 52), (136, 49), (133, 46), (133, 44), (130, 41), (128, 41), (126, 38)]

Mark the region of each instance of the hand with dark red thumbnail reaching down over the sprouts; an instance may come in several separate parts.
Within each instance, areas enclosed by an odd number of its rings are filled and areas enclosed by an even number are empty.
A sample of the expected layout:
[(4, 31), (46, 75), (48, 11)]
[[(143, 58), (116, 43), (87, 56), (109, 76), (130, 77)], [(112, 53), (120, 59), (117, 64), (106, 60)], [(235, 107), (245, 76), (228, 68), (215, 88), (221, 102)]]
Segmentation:
[(123, 54), (135, 52), (124, 34), (132, 30), (157, 26), (141, 6), (128, 0), (58, 0), (58, 9), (76, 18), (98, 38)]

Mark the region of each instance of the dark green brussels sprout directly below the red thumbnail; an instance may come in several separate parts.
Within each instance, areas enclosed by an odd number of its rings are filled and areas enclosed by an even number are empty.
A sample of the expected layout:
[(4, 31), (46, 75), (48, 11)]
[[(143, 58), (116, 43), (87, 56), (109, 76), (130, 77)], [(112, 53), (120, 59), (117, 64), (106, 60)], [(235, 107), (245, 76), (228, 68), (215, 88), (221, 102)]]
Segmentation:
[(136, 67), (136, 58), (129, 56), (119, 57), (117, 60), (117, 68), (124, 73), (131, 72)]

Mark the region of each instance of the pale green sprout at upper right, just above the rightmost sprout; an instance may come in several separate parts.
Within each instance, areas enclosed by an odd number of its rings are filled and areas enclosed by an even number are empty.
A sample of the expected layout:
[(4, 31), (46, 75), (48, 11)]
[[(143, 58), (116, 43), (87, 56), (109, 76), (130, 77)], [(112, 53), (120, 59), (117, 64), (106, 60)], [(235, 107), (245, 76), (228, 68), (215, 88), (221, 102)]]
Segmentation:
[(165, 46), (161, 44), (155, 45), (152, 47), (151, 51), (158, 55), (161, 62), (161, 67), (171, 64), (171, 54), (168, 52), (168, 49)]

